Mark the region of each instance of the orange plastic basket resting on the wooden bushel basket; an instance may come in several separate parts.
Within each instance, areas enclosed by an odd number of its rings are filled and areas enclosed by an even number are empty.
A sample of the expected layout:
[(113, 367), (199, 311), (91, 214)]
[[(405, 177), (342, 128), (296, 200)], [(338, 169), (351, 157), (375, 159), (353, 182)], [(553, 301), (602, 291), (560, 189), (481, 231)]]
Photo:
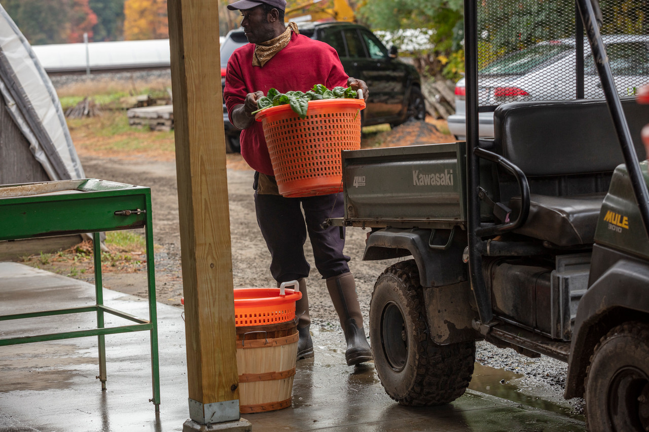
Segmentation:
[[(286, 287), (295, 285), (295, 290)], [(235, 288), (234, 325), (262, 326), (295, 318), (295, 302), (302, 298), (297, 281), (279, 288)]]

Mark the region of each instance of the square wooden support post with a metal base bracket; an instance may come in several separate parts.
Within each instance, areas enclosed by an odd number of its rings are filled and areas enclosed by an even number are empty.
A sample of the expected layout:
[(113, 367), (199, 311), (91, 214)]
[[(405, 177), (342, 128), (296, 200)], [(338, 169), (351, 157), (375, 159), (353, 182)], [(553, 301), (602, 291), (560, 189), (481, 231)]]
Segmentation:
[(190, 396), (183, 431), (252, 429), (239, 418), (217, 5), (167, 2)]

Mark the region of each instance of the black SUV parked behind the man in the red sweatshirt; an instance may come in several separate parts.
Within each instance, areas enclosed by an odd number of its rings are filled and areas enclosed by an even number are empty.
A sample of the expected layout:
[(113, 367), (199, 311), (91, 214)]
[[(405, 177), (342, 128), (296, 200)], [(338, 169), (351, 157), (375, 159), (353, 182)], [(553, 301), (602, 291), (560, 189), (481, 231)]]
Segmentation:
[[(363, 126), (397, 126), (426, 115), (421, 80), (415, 67), (397, 59), (397, 47), (386, 46), (366, 27), (345, 22), (298, 23), (300, 34), (336, 49), (347, 75), (367, 82), (370, 97), (361, 112)], [(248, 43), (243, 29), (230, 30), (221, 45), (221, 84), (232, 52)], [(223, 122), (230, 151), (240, 149), (239, 131), (230, 124), (223, 104)]]

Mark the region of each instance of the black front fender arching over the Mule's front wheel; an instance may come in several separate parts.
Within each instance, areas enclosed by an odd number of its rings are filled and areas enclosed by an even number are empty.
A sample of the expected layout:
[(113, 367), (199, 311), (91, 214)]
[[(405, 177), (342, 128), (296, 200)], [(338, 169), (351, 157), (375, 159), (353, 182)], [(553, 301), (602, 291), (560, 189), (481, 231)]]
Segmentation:
[[(592, 281), (591, 281), (592, 282)], [(613, 327), (630, 320), (647, 320), (649, 265), (618, 259), (583, 295), (572, 331), (564, 396), (581, 398), (594, 346)]]

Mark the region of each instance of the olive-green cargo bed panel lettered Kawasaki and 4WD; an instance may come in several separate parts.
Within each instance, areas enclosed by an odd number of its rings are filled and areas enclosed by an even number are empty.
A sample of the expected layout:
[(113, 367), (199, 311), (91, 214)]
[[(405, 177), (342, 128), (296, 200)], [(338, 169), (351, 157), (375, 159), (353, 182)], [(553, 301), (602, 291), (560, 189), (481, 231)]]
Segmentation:
[(343, 152), (347, 226), (465, 226), (466, 144)]

